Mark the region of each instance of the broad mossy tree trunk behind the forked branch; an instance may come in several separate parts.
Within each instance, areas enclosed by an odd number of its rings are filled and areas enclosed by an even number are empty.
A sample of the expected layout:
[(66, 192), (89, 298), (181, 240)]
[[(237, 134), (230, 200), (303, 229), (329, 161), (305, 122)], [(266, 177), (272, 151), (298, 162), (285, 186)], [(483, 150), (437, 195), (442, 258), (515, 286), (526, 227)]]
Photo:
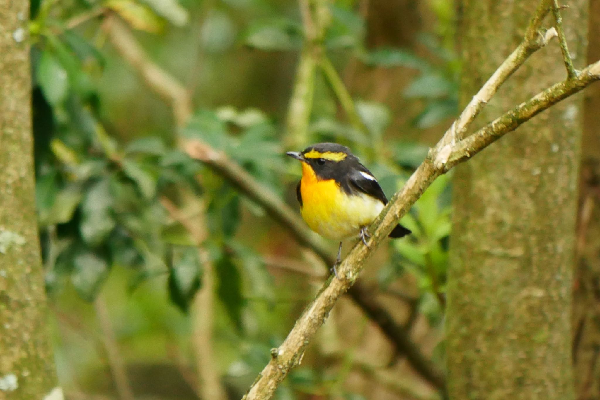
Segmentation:
[[(460, 2), (462, 104), (517, 46), (537, 5)], [(562, 13), (580, 67), (587, 0), (569, 2)], [(478, 121), (565, 77), (554, 41), (508, 80)], [(581, 100), (536, 116), (457, 168), (446, 324), (452, 399), (574, 396), (570, 311)]]

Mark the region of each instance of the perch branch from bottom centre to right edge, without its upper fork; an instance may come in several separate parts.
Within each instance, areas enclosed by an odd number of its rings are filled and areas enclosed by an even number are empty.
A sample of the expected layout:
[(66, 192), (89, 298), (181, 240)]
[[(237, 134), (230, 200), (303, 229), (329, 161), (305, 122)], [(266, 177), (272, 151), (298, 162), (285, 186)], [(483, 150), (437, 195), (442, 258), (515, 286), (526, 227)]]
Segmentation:
[[(271, 398), (278, 384), (286, 377), (290, 369), (299, 365), (304, 349), (310, 343), (317, 329), (327, 319), (329, 311), (337, 299), (352, 287), (364, 267), (365, 261), (438, 176), (481, 152), (491, 143), (514, 131), (519, 125), (538, 113), (581, 91), (597, 80), (600, 80), (600, 61), (584, 68), (577, 77), (545, 89), (461, 142), (444, 143), (444, 137), (442, 137), (440, 142), (431, 149), (421, 166), (410, 176), (404, 187), (392, 197), (383, 209), (371, 228), (372, 235), (367, 243), (368, 246), (365, 246), (360, 240), (356, 243), (338, 267), (340, 279), (330, 277), (325, 282), (313, 302), (302, 312), (283, 344), (271, 351), (271, 361), (256, 378), (244, 396), (244, 400)], [(442, 151), (445, 154), (440, 157)]]

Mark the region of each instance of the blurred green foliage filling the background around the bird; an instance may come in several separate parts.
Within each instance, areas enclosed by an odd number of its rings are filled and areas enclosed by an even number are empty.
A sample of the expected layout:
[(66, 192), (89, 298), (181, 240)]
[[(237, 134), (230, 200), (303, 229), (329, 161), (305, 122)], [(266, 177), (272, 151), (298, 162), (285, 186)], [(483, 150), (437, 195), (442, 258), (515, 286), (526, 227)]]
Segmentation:
[[(451, 2), (432, 1), (431, 7), (439, 18), (440, 31), (421, 35), (420, 43), (428, 56), (418, 55), (414, 49), (368, 49), (364, 18), (356, 2), (350, 0), (332, 5), (332, 22), (323, 43), (336, 59), (355, 59), (365, 68), (418, 71), (403, 93), (406, 101), (420, 104), (421, 110), (411, 121), (416, 130), (433, 127), (457, 110), (457, 65), (447, 40), (452, 34), (448, 15)], [(56, 302), (64, 296), (72, 299), (68, 296), (73, 290), (92, 302), (116, 273), (120, 285), (113, 284), (111, 293), (122, 291), (129, 297), (118, 294), (115, 299), (138, 302), (137, 312), (142, 314), (154, 309), (156, 318), (177, 320), (172, 328), (159, 324), (158, 330), (166, 329), (170, 332), (167, 335), (190, 335), (187, 317), (166, 317), (168, 312), (157, 309), (175, 306), (189, 311), (194, 295), (202, 287), (206, 266), (196, 249), (199, 243), (194, 242), (181, 221), (169, 214), (161, 200), (169, 199), (181, 209), (190, 198), (199, 200), (202, 204), (195, 209), (205, 213), (207, 229), (202, 246), (216, 272), (216, 312), (226, 315), (216, 318), (215, 329), (221, 336), (215, 347), (223, 354), (219, 368), (235, 390), (243, 391), (268, 361), (269, 348), (287, 332), (289, 321), (282, 323), (282, 318), (289, 317), (290, 312), (298, 314), (298, 307), (310, 296), (302, 292), (304, 296), (294, 299), (296, 288), (307, 289), (298, 282), (275, 290), (275, 279), (266, 269), (263, 252), (271, 249), (281, 255), (293, 251), (294, 246), (275, 237), (281, 233), (264, 210), (241, 196), (230, 182), (179, 151), (176, 135), (199, 138), (225, 152), (278, 196), (292, 199), (290, 193), (299, 171), (283, 156), (283, 113), (239, 107), (235, 99), (227, 104), (205, 104), (200, 100), (181, 131), (164, 122), (146, 134), (124, 131), (122, 127), (127, 125), (113, 120), (117, 114), (110, 110), (122, 107), (119, 104), (135, 104), (122, 102), (120, 97), (136, 91), (128, 89), (131, 84), (110, 70), (125, 62), (106, 43), (102, 24), (109, 13), (137, 31), (137, 37), (148, 44), (148, 52), (155, 58), (160, 59), (162, 51), (165, 64), (173, 71), (181, 68), (169, 61), (173, 53), (153, 42), (168, 39), (169, 43), (178, 43), (178, 37), (197, 35), (196, 48), (186, 49), (189, 43), (185, 42), (175, 50), (182, 59), (188, 53), (205, 58), (184, 64), (197, 68), (200, 62), (202, 68), (193, 73), (214, 77), (215, 66), (227, 65), (223, 64), (226, 54), (298, 53), (304, 33), (296, 4), (267, 0), (34, 0), (31, 7), (36, 200), (49, 292)], [(169, 39), (170, 32), (177, 29), (179, 36)], [(274, 57), (272, 53), (262, 56)], [(226, 76), (235, 76), (230, 72), (226, 68), (223, 71)], [(142, 81), (136, 82), (134, 85), (143, 85)], [(239, 85), (235, 79), (232, 82), (221, 83)], [(214, 88), (221, 83), (202, 87), (218, 92)], [(337, 100), (323, 76), (316, 85), (311, 143), (349, 145), (391, 196), (421, 163), (427, 145), (392, 134), (389, 107), (373, 100), (355, 99), (366, 130), (352, 127), (337, 112)], [(257, 92), (260, 98), (264, 86), (245, 90)], [(140, 97), (139, 101), (143, 105), (148, 99)], [(135, 115), (130, 109), (120, 112)], [(374, 148), (372, 143), (385, 146)], [(412, 276), (417, 282), (419, 310), (434, 326), (443, 315), (436, 296), (443, 295), (446, 274), (450, 228), (447, 177), (431, 186), (403, 224), (413, 235), (394, 242), (389, 261), (377, 272), (378, 283), (385, 290), (402, 276)], [(157, 290), (163, 291), (161, 296)], [(140, 300), (139, 291), (154, 293), (154, 297)], [(282, 295), (292, 301), (283, 301), (282, 306)], [(162, 305), (148, 305), (150, 302)], [(279, 311), (273, 313), (274, 308)], [(118, 324), (123, 324), (119, 332), (127, 337), (133, 336), (128, 330), (134, 328), (125, 326), (131, 318), (118, 319)], [(142, 335), (150, 328), (140, 324), (137, 334)], [(236, 380), (239, 376), (244, 379)], [(278, 398), (294, 399), (298, 393), (319, 392), (331, 386), (326, 379), (311, 368), (297, 369), (278, 391)], [(365, 398), (350, 392), (342, 396)]]

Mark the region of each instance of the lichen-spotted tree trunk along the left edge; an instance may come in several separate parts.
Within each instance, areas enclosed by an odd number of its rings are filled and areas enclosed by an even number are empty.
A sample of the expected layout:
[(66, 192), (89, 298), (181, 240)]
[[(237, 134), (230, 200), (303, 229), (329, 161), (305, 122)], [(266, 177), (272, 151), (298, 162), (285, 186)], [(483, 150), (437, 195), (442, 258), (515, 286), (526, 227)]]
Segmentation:
[(28, 5), (0, 0), (0, 398), (15, 400), (56, 386), (34, 204)]

